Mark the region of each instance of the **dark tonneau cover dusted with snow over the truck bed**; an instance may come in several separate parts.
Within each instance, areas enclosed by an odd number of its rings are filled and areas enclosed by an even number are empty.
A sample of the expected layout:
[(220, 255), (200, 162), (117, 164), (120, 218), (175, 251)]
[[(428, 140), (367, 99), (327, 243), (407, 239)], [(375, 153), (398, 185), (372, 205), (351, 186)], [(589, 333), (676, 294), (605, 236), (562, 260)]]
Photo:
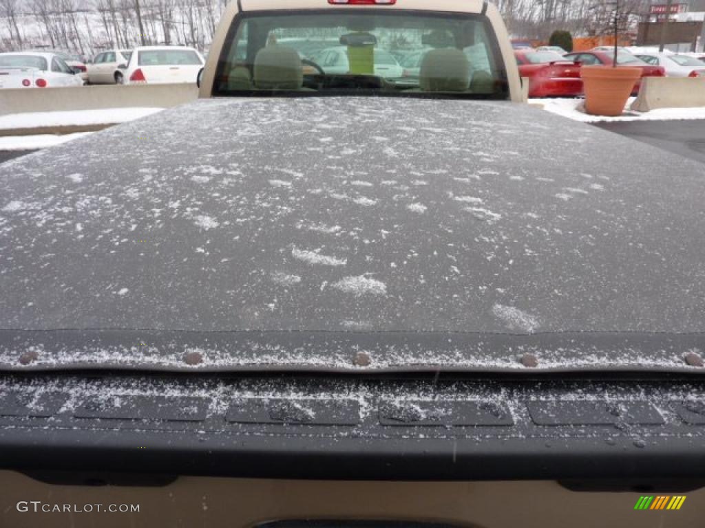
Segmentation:
[(509, 103), (197, 101), (2, 165), (0, 365), (692, 370), (703, 174)]

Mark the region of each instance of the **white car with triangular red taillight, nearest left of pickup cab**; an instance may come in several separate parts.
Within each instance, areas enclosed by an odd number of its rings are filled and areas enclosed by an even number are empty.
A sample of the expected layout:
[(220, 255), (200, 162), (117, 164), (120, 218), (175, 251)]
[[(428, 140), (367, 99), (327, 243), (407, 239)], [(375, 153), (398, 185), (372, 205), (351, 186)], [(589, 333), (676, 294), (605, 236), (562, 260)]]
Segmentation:
[(185, 46), (146, 46), (135, 48), (127, 68), (125, 84), (192, 82), (205, 60), (195, 49)]

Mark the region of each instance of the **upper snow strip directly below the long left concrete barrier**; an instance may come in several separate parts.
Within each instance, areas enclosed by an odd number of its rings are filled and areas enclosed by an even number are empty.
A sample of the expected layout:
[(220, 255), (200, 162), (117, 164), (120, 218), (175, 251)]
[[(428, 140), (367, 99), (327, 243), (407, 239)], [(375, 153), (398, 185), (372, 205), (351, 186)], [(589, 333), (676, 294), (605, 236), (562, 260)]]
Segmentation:
[(0, 116), (0, 132), (16, 128), (114, 125), (162, 110), (164, 108), (102, 108), (68, 112), (11, 113)]

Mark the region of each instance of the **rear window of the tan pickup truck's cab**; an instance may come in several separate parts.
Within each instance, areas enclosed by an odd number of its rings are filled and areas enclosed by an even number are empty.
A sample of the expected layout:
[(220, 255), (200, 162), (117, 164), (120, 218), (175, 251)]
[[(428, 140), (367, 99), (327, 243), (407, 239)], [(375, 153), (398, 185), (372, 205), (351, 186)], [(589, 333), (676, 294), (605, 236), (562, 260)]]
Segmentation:
[(403, 11), (240, 16), (219, 58), (214, 95), (507, 99), (505, 66), (486, 24), (483, 15)]

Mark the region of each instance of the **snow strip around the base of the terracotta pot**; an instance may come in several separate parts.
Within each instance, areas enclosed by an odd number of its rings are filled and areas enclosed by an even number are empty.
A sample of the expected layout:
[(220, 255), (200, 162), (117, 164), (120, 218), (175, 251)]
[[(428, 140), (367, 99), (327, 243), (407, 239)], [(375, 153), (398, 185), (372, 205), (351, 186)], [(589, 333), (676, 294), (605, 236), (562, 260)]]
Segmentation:
[(588, 115), (583, 108), (584, 99), (529, 99), (529, 104), (543, 106), (545, 111), (563, 115), (582, 122), (618, 122), (618, 121), (663, 121), (683, 119), (705, 119), (705, 107), (698, 108), (658, 108), (650, 112), (630, 111), (629, 107), (635, 97), (630, 97), (624, 115), (608, 118), (602, 115)]

